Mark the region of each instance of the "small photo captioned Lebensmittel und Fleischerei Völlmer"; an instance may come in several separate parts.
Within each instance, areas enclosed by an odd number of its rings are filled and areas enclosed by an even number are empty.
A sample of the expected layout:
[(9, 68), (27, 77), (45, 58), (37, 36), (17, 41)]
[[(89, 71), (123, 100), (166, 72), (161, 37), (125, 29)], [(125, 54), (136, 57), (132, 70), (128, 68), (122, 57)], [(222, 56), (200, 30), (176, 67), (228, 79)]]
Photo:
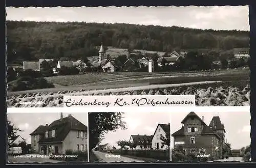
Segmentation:
[(7, 113), (8, 163), (88, 162), (88, 113)]

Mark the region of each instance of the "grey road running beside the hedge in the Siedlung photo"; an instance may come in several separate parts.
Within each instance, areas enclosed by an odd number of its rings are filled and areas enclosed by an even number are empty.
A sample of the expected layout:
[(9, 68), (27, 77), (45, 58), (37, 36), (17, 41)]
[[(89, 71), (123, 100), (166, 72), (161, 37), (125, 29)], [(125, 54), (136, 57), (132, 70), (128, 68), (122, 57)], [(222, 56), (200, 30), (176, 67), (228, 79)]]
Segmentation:
[(103, 153), (103, 152), (99, 152), (99, 151), (93, 151), (93, 153), (95, 154), (95, 156), (99, 159), (99, 161), (101, 162), (144, 162), (145, 160), (138, 160), (138, 159), (133, 159), (133, 158), (129, 158), (129, 157), (124, 157), (124, 156), (120, 156), (119, 158), (117, 157), (117, 155), (115, 154), (111, 154), (111, 153)]

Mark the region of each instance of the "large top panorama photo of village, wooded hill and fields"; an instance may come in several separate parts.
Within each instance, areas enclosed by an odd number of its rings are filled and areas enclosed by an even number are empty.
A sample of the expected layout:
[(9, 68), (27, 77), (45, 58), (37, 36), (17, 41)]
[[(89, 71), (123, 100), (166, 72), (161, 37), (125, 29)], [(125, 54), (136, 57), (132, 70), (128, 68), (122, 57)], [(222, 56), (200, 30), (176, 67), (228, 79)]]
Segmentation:
[(64, 95), (250, 105), (248, 6), (6, 11), (8, 107), (63, 107)]

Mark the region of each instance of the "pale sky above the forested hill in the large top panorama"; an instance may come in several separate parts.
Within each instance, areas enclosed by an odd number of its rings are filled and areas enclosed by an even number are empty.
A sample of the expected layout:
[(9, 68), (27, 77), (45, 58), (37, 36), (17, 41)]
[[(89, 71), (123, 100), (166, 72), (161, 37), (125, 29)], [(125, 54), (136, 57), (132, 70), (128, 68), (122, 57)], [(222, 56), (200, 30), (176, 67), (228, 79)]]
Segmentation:
[(84, 21), (249, 31), (248, 6), (213, 7), (7, 7), (7, 20)]

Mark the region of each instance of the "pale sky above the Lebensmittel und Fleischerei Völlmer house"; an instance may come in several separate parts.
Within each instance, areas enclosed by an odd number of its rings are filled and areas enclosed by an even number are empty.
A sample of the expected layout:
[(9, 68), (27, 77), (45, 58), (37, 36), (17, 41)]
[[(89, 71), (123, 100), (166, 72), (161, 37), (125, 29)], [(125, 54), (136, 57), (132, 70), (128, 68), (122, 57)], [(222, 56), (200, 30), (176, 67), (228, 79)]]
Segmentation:
[[(88, 126), (87, 113), (70, 113), (75, 119)], [(68, 117), (67, 113), (63, 113), (63, 118)], [(53, 121), (60, 119), (60, 113), (7, 113), (7, 120), (11, 121), (15, 127), (23, 132), (17, 132), (31, 144), (31, 135), (39, 125), (51, 124)]]

